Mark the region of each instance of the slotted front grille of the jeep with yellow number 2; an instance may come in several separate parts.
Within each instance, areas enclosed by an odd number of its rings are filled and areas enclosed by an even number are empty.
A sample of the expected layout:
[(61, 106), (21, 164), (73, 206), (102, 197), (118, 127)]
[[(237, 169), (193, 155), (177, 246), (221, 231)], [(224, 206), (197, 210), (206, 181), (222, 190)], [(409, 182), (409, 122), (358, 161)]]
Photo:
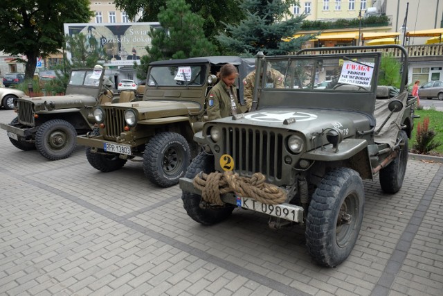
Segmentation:
[(234, 171), (251, 176), (263, 173), (267, 180), (282, 179), (283, 135), (254, 128), (224, 128), (224, 153), (234, 159)]

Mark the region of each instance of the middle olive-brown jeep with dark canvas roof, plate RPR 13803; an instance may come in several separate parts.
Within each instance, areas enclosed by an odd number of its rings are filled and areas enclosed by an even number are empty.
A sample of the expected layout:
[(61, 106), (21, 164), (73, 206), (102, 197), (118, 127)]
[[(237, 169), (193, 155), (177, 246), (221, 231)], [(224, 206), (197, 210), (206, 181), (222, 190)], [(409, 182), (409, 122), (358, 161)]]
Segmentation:
[(77, 138), (87, 146), (89, 164), (110, 172), (128, 159), (143, 159), (148, 180), (163, 187), (177, 184), (198, 153), (192, 137), (206, 120), (206, 94), (226, 63), (238, 69), (237, 97), (246, 108), (241, 81), (254, 69), (254, 59), (216, 56), (152, 62), (143, 101), (94, 107), (99, 128)]

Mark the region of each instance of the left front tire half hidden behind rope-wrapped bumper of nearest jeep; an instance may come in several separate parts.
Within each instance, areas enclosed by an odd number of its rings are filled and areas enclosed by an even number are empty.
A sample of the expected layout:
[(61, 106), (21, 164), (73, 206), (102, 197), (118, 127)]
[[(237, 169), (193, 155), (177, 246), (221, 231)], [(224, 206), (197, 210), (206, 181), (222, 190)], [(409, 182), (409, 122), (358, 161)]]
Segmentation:
[[(192, 160), (185, 177), (193, 179), (195, 175), (203, 171), (204, 173), (213, 173), (214, 156), (201, 152), (195, 159)], [(217, 207), (214, 209), (201, 209), (201, 196), (193, 193), (184, 192), (181, 195), (183, 200), (183, 207), (186, 213), (193, 220), (203, 225), (213, 225), (225, 220), (233, 212), (234, 206), (226, 204), (225, 207)]]

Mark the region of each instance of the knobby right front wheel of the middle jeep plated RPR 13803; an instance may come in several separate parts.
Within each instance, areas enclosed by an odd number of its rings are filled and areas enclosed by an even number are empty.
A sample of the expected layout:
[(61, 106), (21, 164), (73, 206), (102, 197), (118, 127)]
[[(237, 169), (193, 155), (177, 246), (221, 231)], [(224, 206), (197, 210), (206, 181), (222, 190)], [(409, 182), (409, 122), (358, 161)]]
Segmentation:
[(146, 144), (143, 172), (152, 183), (169, 187), (185, 175), (190, 159), (188, 141), (181, 134), (161, 132)]

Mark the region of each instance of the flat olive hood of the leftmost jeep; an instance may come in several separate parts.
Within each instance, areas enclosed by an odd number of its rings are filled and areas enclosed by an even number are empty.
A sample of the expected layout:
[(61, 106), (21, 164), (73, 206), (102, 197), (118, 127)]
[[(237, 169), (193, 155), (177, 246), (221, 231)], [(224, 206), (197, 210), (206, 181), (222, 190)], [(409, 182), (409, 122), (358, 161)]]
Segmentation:
[(93, 96), (85, 96), (83, 94), (69, 94), (66, 96), (38, 96), (34, 98), (20, 98), (19, 100), (30, 101), (36, 106), (45, 104), (50, 105), (52, 109), (84, 107), (84, 105), (91, 106), (96, 105), (97, 103), (96, 98)]

